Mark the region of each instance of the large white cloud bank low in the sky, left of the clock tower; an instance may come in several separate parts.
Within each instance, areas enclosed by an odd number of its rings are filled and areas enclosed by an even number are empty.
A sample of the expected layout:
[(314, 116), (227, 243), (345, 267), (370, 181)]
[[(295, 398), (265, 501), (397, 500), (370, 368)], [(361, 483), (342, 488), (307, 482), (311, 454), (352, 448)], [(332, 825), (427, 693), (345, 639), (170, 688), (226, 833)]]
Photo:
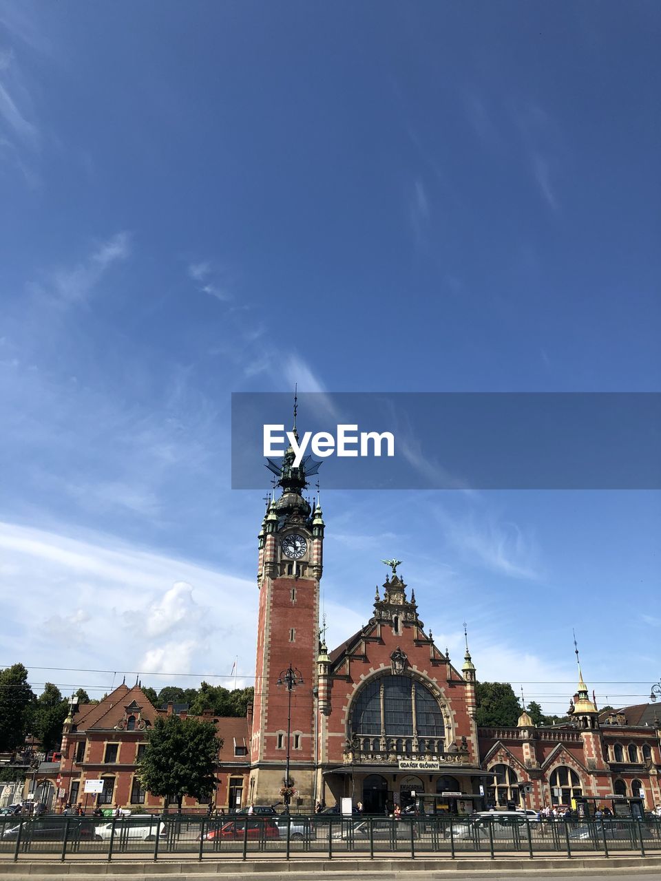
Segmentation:
[[(239, 655), (241, 669), (252, 674), (258, 599), (253, 581), (100, 533), (70, 537), (0, 522), (0, 549), (0, 663), (120, 666), (140, 671), (148, 685), (149, 673), (160, 671), (228, 673)], [(56, 611), (44, 619), (35, 609)], [(56, 682), (71, 684), (71, 673), (56, 675)], [(108, 687), (108, 677), (85, 679), (79, 685)]]

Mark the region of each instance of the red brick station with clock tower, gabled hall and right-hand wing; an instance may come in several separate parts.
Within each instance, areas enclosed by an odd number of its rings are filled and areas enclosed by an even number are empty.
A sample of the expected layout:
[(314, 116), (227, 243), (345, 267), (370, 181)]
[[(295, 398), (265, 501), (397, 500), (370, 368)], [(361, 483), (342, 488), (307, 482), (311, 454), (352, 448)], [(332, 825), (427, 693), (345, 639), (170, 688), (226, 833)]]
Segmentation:
[[(571, 724), (536, 728), (524, 712), (515, 728), (478, 729), (468, 644), (461, 667), (434, 646), (397, 561), (368, 625), (329, 652), (318, 612), (322, 509), (303, 498), (308, 475), (293, 459), (290, 447), (282, 494), (258, 537), (250, 801), (281, 800), (289, 730), (289, 782), (308, 810), (342, 796), (368, 811), (420, 796), (426, 809), (448, 811), (541, 808), (579, 796), (620, 796), (627, 806), (624, 796), (640, 798), (647, 809), (661, 803), (661, 723), (640, 724), (641, 714), (600, 718), (580, 669)], [(290, 665), (302, 680), (291, 706), (282, 685)]]

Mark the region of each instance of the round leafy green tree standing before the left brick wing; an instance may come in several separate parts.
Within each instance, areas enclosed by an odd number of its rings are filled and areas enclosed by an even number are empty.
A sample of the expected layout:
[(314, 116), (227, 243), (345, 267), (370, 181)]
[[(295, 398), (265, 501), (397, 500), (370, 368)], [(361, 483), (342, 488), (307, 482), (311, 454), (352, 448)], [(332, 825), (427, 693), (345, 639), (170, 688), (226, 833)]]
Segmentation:
[(147, 748), (137, 774), (145, 789), (166, 799), (165, 805), (176, 800), (181, 811), (183, 796), (199, 801), (212, 795), (222, 745), (213, 722), (157, 716), (147, 733)]

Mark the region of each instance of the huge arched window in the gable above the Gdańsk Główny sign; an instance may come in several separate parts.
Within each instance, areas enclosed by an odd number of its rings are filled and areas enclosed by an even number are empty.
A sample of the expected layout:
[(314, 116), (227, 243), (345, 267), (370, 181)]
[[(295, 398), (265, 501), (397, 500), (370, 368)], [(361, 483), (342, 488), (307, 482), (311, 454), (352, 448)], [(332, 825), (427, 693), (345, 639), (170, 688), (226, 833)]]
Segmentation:
[(412, 751), (412, 738), (418, 749), (442, 752), (445, 725), (434, 694), (421, 682), (407, 676), (372, 679), (353, 702), (351, 736), (359, 737), (363, 751), (385, 749)]

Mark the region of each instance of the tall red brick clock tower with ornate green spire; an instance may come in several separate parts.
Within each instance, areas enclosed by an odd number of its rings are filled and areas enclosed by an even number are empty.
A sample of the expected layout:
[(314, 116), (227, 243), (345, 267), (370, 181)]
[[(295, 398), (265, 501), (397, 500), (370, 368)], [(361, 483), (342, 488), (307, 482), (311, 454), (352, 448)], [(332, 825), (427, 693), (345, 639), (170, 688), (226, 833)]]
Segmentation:
[[(296, 432), (294, 398), (293, 433)], [(259, 532), (257, 587), (259, 617), (249, 803), (285, 799), (289, 782), (293, 803), (313, 808), (316, 766), (316, 658), (319, 649), (319, 581), (322, 577), (323, 518), (303, 492), (319, 463), (309, 456), (295, 467), (290, 446), (282, 463), (269, 460), (279, 498), (273, 493)], [(295, 681), (287, 690), (287, 670)], [(290, 683), (292, 677), (289, 677)], [(302, 680), (302, 681), (301, 681)]]

